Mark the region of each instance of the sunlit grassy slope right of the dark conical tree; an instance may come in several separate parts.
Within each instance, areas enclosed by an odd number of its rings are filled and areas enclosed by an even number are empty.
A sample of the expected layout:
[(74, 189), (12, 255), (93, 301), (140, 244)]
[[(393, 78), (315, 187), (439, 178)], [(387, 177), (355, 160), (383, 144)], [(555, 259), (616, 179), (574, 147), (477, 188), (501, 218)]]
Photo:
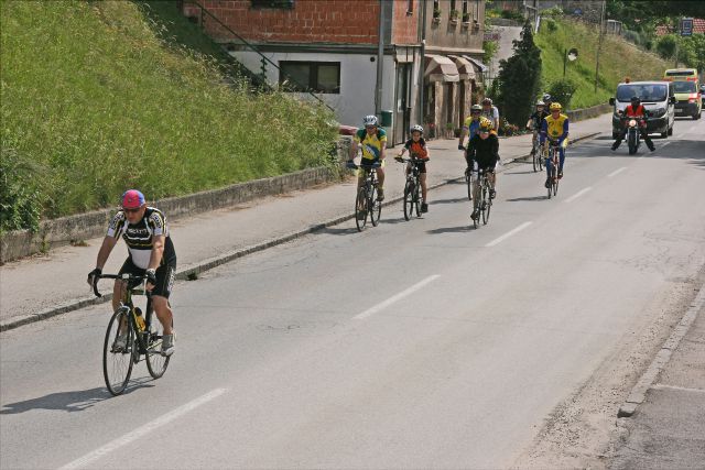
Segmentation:
[(615, 88), (625, 77), (632, 80), (661, 79), (663, 72), (673, 65), (657, 55), (639, 50), (620, 36), (606, 34), (599, 56), (599, 75), (595, 91), (595, 64), (598, 29), (594, 25), (566, 19), (543, 21), (535, 44), (541, 47), (543, 89), (563, 77), (565, 50), (578, 50), (578, 58), (566, 65), (566, 78), (577, 85), (571, 100), (571, 109), (605, 103), (614, 96)]

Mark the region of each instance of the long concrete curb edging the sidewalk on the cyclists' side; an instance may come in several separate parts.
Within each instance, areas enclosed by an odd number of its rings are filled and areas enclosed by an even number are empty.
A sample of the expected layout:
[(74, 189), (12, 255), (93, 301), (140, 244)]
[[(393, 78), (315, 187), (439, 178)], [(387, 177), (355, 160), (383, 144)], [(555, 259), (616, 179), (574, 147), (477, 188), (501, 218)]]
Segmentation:
[[(579, 138), (576, 138), (572, 141), (570, 141), (570, 144), (574, 144), (575, 142), (579, 142), (582, 140), (586, 140), (586, 139), (590, 139), (594, 138), (595, 135), (598, 135), (599, 132), (594, 132), (594, 133), (588, 133), (585, 135), (581, 135)], [(508, 164), (508, 163), (512, 163), (516, 162), (518, 160), (524, 160), (530, 157), (530, 154), (527, 155), (521, 155), (521, 156), (516, 156), (512, 159), (507, 159), (505, 161), (502, 161), (502, 164)], [(452, 184), (452, 183), (457, 183), (463, 181), (465, 177), (464, 176), (459, 176), (457, 178), (449, 178), (449, 179), (445, 179), (441, 183), (436, 183), (433, 186), (429, 186), (429, 190), (431, 189), (437, 189), (442, 186)], [(397, 204), (400, 203), (403, 199), (403, 196), (398, 196), (395, 198), (389, 199), (386, 203), (382, 204), (382, 207), (387, 207), (387, 206), (391, 206), (392, 204)], [(262, 243), (257, 243), (257, 244), (252, 244), (246, 248), (241, 248), (238, 250), (234, 250), (230, 252), (227, 252), (226, 254), (219, 255), (219, 256), (215, 256), (215, 258), (210, 258), (206, 261), (203, 261), (200, 263), (197, 263), (196, 265), (192, 265), (185, 270), (182, 271), (177, 271), (176, 272), (176, 278), (180, 281), (187, 281), (187, 280), (195, 280), (198, 277), (198, 274), (212, 270), (216, 266), (219, 266), (221, 264), (228, 263), (230, 261), (237, 260), (238, 258), (242, 258), (246, 256), (248, 254), (252, 254), (252, 253), (257, 253), (258, 251), (262, 251), (262, 250), (267, 250), (268, 248), (272, 248), (272, 247), (276, 247), (278, 244), (283, 244), (286, 243), (289, 241), (295, 240), (297, 238), (307, 236), (310, 233), (314, 233), (318, 230), (325, 229), (327, 227), (332, 227), (332, 226), (336, 226), (338, 223), (345, 222), (347, 220), (350, 220), (355, 217), (354, 214), (348, 214), (345, 216), (340, 216), (340, 217), (335, 217), (333, 219), (323, 221), (323, 222), (318, 222), (318, 223), (313, 223), (310, 227), (302, 229), (302, 230), (297, 230), (278, 238), (273, 238), (271, 240), (264, 241)], [(88, 306), (93, 306), (93, 305), (99, 305), (99, 304), (104, 304), (106, 302), (109, 302), (112, 298), (112, 293), (106, 293), (102, 295), (102, 297), (89, 297), (89, 298), (82, 298), (82, 299), (76, 299), (76, 300), (72, 300), (67, 304), (61, 305), (58, 307), (52, 307), (48, 308), (46, 310), (40, 311), (39, 314), (30, 314), (30, 315), (24, 315), (21, 316), (19, 318), (14, 318), (8, 323), (3, 323), (0, 324), (0, 331), (8, 331), (18, 327), (21, 327), (23, 325), (29, 325), (35, 321), (41, 321), (41, 320), (45, 320), (47, 318), (52, 318), (55, 317), (57, 315), (63, 315), (63, 314), (67, 314), (69, 311), (73, 310), (77, 310), (79, 308), (84, 308), (84, 307), (88, 307)]]

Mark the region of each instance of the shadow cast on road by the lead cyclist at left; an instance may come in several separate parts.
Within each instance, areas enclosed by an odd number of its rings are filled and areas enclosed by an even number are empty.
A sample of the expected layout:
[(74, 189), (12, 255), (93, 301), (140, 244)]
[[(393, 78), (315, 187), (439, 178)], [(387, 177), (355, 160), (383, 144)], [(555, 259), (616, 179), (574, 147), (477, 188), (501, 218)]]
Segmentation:
[[(141, 378), (130, 381), (130, 384), (123, 395), (132, 393), (139, 389), (154, 386), (148, 382), (152, 382), (152, 379)], [(112, 398), (112, 395), (110, 395), (110, 392), (108, 392), (105, 386), (89, 390), (76, 390), (73, 392), (50, 393), (48, 395), (25, 400), (23, 402), (3, 404), (2, 409), (0, 409), (0, 415), (15, 415), (30, 412), (32, 409), (57, 409), (69, 413), (83, 412), (86, 408), (90, 408), (96, 403), (100, 403), (108, 398)]]

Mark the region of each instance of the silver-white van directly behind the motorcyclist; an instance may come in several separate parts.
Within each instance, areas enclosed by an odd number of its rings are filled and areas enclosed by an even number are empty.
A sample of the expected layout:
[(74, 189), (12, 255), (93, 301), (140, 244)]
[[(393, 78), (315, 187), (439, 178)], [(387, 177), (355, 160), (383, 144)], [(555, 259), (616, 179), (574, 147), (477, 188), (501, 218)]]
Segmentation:
[(617, 85), (617, 97), (610, 98), (612, 110), (612, 139), (622, 131), (623, 123), (619, 119), (619, 111), (631, 102), (631, 98), (638, 96), (644, 109), (649, 112), (647, 132), (659, 133), (662, 138), (673, 134), (675, 121), (675, 95), (672, 81), (630, 81)]

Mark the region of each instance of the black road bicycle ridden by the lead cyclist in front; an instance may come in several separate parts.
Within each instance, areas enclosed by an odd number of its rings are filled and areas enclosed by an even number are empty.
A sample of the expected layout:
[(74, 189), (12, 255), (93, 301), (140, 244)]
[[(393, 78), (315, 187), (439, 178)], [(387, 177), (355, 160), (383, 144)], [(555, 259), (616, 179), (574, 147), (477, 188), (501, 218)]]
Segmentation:
[[(120, 395), (128, 386), (132, 365), (144, 359), (150, 375), (159, 379), (164, 375), (171, 357), (162, 356), (162, 324), (153, 314), (152, 298), (144, 291), (147, 276), (134, 274), (100, 274), (94, 277), (93, 291), (96, 297), (98, 280), (121, 280), (126, 283), (120, 306), (115, 310), (102, 345), (102, 374), (106, 386), (112, 395)], [(133, 295), (147, 295), (144, 317), (139, 307), (132, 304)]]

